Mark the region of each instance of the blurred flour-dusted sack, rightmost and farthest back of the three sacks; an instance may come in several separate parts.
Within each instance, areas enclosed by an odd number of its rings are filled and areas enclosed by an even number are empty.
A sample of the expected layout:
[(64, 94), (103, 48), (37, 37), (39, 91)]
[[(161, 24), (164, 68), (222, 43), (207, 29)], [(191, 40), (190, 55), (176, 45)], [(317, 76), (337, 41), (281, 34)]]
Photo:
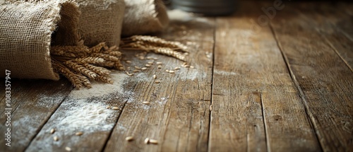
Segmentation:
[(160, 32), (169, 23), (161, 0), (125, 0), (125, 6), (121, 31), (124, 36)]

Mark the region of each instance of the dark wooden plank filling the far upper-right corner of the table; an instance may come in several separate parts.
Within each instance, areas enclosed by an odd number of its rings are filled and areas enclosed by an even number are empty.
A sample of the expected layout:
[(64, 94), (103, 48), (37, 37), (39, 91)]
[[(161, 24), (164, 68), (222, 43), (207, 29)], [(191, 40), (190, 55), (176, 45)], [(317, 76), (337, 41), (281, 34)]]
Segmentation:
[(315, 21), (311, 22), (311, 30), (318, 31), (324, 42), (330, 45), (353, 71), (353, 39), (347, 34), (353, 33), (353, 16), (345, 11), (337, 11), (337, 8), (353, 8), (353, 4), (335, 3), (333, 6), (329, 3), (302, 3), (296, 7), (296, 12), (303, 17), (303, 21)]

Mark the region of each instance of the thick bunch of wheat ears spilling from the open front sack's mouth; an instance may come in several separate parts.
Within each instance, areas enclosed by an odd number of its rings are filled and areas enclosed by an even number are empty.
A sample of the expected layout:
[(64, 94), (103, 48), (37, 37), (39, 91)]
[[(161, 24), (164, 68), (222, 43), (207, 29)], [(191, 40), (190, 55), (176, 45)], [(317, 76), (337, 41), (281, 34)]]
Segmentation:
[(54, 71), (68, 78), (75, 88), (91, 88), (90, 80), (113, 83), (110, 71), (104, 66), (124, 70), (119, 47), (107, 47), (104, 42), (91, 48), (53, 46), (50, 52)]

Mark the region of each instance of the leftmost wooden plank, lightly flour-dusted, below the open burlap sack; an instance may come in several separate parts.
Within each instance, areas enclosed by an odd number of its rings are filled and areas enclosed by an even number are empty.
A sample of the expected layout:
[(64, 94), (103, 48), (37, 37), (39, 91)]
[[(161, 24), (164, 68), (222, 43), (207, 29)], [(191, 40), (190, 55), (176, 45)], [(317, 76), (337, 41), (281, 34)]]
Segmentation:
[[(8, 133), (11, 124), (11, 146), (6, 146), (6, 140), (0, 140), (0, 149), (4, 151), (23, 151), (47, 119), (66, 98), (71, 84), (62, 79), (48, 80), (18, 80), (11, 81), (12, 110), (6, 110), (5, 99), (1, 100), (1, 127), (2, 133)], [(11, 120), (8, 120), (8, 111), (11, 111)], [(8, 123), (9, 122), (9, 123)], [(4, 138), (7, 138), (7, 135)]]

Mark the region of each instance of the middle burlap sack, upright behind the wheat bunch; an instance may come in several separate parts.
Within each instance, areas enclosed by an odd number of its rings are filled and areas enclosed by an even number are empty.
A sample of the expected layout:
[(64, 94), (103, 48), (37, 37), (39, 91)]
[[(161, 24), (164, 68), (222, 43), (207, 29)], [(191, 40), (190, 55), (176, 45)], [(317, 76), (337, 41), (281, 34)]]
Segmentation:
[(121, 24), (125, 11), (124, 0), (76, 0), (80, 7), (80, 35), (85, 45), (119, 45)]

